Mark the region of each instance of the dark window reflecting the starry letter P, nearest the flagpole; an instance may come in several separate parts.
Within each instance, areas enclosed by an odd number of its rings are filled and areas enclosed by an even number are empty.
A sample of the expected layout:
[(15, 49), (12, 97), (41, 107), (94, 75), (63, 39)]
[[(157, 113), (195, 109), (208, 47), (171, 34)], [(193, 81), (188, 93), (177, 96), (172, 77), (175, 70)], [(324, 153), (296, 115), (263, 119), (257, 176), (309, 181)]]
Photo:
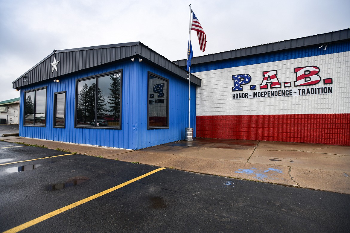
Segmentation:
[(169, 80), (148, 72), (148, 129), (169, 128)]

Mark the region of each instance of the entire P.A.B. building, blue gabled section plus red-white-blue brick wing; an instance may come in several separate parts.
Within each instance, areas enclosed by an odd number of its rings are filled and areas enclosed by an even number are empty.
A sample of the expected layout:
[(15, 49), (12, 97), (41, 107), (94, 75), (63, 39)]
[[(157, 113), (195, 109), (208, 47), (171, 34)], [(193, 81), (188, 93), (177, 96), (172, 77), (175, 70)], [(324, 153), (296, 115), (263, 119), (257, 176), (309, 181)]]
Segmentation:
[[(345, 29), (194, 57), (194, 136), (350, 145), (349, 55)], [(20, 136), (128, 149), (183, 140), (185, 69), (140, 42), (54, 50), (13, 82)]]

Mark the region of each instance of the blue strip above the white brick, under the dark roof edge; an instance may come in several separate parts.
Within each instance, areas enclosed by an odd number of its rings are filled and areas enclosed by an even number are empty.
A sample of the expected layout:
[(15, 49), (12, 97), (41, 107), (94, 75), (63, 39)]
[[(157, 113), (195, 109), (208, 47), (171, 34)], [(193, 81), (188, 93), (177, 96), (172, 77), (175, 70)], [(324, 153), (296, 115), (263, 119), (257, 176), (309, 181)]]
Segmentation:
[[(345, 51), (350, 51), (350, 42), (329, 44), (327, 47), (327, 50), (323, 50), (318, 48), (318, 46), (315, 46), (315, 47), (287, 50), (287, 51), (280, 51), (280, 52), (270, 52), (264, 55), (238, 57), (238, 58), (232, 58), (230, 60), (225, 60), (225, 61), (217, 61), (217, 62), (204, 63), (204, 64), (193, 64), (191, 65), (191, 72), (196, 73), (196, 72), (225, 69), (225, 68), (231, 68), (231, 67), (237, 67), (237, 66), (283, 61), (283, 60), (302, 58), (302, 57), (334, 54), (337, 52), (345, 52)], [(236, 52), (236, 50), (233, 50), (231, 52)], [(244, 56), (244, 54), (240, 54), (239, 56)]]

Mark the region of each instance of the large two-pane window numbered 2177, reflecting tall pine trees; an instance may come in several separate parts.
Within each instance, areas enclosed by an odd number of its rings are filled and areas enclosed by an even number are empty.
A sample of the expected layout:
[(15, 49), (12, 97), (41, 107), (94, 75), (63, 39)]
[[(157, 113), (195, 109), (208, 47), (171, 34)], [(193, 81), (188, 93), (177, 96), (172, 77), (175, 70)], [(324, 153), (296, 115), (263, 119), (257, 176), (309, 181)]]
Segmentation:
[(77, 81), (76, 126), (121, 128), (121, 71)]

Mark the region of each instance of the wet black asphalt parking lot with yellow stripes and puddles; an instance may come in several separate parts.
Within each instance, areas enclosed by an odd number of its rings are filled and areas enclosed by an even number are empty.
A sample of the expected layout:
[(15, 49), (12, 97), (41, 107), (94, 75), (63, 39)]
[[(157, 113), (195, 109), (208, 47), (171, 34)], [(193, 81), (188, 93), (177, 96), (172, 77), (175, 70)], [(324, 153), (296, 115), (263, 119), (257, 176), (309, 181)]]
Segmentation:
[(350, 229), (350, 195), (162, 169), (3, 141), (0, 196), (1, 232)]

